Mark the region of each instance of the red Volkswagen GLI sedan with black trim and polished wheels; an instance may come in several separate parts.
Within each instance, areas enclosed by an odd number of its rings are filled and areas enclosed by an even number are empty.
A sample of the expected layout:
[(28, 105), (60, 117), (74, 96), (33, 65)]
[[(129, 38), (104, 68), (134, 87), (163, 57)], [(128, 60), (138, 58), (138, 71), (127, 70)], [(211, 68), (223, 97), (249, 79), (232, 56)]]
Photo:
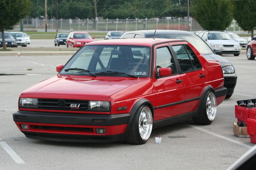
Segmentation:
[(26, 137), (144, 144), (152, 128), (211, 124), (227, 91), (219, 62), (184, 40), (96, 41), (56, 70), (19, 97), (13, 119)]

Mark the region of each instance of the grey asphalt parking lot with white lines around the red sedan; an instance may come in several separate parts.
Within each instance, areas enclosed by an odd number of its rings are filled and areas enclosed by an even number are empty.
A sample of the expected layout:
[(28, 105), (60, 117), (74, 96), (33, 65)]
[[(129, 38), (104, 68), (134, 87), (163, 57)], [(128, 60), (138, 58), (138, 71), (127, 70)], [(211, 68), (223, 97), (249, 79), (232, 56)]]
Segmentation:
[[(0, 56), (0, 169), (226, 169), (254, 146), (249, 138), (233, 135), (236, 101), (256, 98), (256, 60), (247, 60), (246, 54), (224, 56), (233, 63), (238, 82), (233, 96), (217, 107), (211, 125), (198, 126), (187, 120), (153, 129), (144, 145), (26, 138), (12, 117), (19, 95), (55, 76), (55, 66), (64, 65), (70, 57)], [(159, 134), (162, 142), (155, 144), (154, 137)]]

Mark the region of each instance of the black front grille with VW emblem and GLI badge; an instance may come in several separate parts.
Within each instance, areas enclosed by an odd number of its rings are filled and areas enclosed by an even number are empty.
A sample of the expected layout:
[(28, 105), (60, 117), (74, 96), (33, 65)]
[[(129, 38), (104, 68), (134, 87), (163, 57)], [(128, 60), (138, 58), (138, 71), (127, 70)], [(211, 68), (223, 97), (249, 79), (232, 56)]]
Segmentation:
[[(88, 111), (87, 105), (88, 100), (62, 100), (60, 99), (38, 99), (39, 109), (49, 109), (49, 110), (72, 110), (72, 111)], [(75, 107), (71, 107), (73, 104)], [(80, 104), (80, 105), (79, 105)], [(79, 106), (79, 107), (78, 107)]]

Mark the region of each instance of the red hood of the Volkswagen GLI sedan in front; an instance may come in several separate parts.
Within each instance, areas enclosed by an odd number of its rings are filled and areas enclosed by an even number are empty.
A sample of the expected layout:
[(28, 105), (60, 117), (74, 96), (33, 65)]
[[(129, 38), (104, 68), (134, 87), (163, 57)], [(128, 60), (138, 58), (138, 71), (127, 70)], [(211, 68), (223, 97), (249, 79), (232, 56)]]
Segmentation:
[(129, 77), (88, 77), (88, 76), (54, 76), (27, 90), (22, 95), (37, 97), (61, 96), (98, 99), (109, 96), (145, 79)]

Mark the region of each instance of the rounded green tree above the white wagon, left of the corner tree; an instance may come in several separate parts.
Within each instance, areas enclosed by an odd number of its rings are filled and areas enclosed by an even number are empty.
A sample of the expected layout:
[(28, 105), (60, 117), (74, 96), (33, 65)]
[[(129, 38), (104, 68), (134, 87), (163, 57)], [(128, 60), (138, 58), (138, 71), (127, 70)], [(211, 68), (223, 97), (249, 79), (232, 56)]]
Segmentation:
[(191, 14), (207, 30), (225, 30), (233, 19), (231, 0), (191, 1)]

